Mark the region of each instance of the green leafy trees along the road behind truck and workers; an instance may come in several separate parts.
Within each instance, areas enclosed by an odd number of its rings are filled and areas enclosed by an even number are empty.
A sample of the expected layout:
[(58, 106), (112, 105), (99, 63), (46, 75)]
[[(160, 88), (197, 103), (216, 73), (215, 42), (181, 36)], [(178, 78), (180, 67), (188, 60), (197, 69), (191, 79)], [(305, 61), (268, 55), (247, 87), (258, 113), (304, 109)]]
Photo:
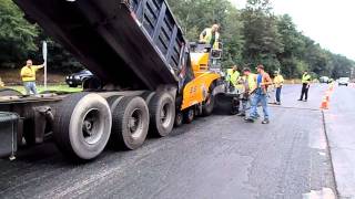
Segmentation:
[[(168, 0), (185, 36), (196, 41), (200, 32), (221, 24), (223, 66), (254, 67), (264, 64), (268, 72), (281, 70), (288, 78), (307, 70), (314, 77), (349, 76), (355, 62), (334, 54), (297, 30), (288, 14), (273, 12), (270, 0), (247, 0), (244, 9), (229, 0)], [(11, 0), (0, 0), (0, 67), (20, 67), (27, 57), (41, 60), (41, 41), (49, 43), (51, 70), (75, 71), (82, 65), (43, 31), (23, 19)]]

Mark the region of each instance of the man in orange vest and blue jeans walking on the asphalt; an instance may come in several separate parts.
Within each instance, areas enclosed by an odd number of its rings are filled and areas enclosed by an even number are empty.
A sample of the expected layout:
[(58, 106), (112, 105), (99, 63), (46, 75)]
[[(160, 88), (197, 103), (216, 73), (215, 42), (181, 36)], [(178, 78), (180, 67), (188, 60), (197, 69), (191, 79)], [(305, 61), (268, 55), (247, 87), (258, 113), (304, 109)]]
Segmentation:
[(257, 65), (256, 75), (256, 88), (252, 91), (253, 96), (251, 98), (251, 114), (250, 117), (245, 117), (245, 122), (254, 123), (257, 119), (257, 104), (261, 103), (264, 113), (264, 119), (262, 124), (268, 124), (268, 109), (267, 109), (267, 86), (272, 85), (273, 82), (270, 75), (264, 71), (263, 65)]

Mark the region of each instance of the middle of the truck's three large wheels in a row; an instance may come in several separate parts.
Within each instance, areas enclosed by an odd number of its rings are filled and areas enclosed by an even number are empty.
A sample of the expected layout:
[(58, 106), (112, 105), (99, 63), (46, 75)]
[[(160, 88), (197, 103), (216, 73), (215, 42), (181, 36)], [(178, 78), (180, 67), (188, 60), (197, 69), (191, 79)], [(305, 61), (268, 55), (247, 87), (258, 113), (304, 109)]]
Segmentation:
[(149, 109), (139, 96), (118, 98), (112, 111), (111, 143), (115, 148), (136, 149), (143, 145), (149, 129)]

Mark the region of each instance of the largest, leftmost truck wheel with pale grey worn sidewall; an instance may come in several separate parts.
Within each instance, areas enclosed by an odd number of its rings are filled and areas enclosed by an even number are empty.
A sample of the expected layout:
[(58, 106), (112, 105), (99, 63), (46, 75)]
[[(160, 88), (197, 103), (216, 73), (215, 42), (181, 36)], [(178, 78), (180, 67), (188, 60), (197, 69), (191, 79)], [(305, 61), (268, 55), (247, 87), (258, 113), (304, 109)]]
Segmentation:
[(90, 160), (99, 156), (111, 134), (108, 102), (94, 93), (78, 93), (64, 98), (54, 116), (54, 142), (64, 155)]

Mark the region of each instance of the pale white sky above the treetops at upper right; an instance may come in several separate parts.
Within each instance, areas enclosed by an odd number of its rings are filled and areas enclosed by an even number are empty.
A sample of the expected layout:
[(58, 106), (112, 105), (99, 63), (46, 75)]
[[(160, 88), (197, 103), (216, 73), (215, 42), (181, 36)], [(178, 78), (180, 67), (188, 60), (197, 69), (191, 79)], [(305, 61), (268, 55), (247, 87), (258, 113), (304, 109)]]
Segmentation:
[[(230, 0), (239, 9), (246, 0)], [(355, 60), (355, 0), (271, 0), (276, 14), (287, 13), (297, 30), (333, 53)]]

